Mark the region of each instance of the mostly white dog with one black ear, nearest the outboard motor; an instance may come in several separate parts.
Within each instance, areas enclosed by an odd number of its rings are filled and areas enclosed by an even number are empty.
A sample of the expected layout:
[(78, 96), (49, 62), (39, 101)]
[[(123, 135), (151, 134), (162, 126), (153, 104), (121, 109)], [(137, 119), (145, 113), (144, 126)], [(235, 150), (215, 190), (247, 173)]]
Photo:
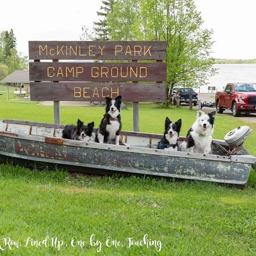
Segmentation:
[(211, 153), (212, 133), (214, 132), (215, 111), (205, 114), (197, 111), (196, 122), (189, 129), (180, 150), (194, 153)]

